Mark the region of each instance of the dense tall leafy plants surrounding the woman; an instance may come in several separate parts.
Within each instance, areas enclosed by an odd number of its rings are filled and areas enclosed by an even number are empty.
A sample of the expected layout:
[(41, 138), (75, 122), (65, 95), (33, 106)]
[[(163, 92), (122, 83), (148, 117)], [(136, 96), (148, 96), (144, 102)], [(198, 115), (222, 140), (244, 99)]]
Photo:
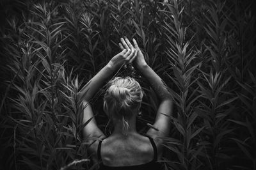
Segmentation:
[[(253, 1), (1, 1), (0, 169), (95, 169), (77, 91), (136, 38), (175, 108), (166, 169), (256, 169)], [(121, 68), (117, 75), (127, 75)], [(140, 73), (147, 130), (157, 98)], [(102, 130), (102, 91), (93, 99)], [(97, 107), (96, 107), (97, 106)]]

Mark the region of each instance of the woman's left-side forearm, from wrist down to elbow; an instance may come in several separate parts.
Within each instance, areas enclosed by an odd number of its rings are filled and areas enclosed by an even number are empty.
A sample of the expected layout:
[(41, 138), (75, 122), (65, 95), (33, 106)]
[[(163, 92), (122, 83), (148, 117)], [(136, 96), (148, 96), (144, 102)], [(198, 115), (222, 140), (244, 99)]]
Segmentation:
[(84, 85), (79, 93), (79, 97), (82, 100), (89, 102), (114, 72), (115, 68), (108, 63), (87, 84)]

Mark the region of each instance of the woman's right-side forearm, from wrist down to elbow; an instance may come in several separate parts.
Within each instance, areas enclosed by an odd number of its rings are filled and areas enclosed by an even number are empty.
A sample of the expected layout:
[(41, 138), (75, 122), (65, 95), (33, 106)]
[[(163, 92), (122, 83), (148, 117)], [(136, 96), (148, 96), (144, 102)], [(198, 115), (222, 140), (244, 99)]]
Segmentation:
[(150, 66), (147, 64), (140, 66), (139, 68), (142, 75), (150, 82), (152, 88), (156, 92), (156, 95), (160, 98), (160, 100), (172, 100), (172, 96), (167, 89), (164, 81), (157, 75)]

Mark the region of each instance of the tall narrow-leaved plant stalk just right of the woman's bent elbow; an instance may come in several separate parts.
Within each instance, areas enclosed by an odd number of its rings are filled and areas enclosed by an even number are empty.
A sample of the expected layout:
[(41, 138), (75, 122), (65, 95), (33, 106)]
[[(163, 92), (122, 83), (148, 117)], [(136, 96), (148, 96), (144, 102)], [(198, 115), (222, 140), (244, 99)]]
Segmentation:
[[(202, 166), (198, 162), (198, 157), (204, 156), (204, 144), (193, 142), (200, 141), (198, 134), (204, 127), (194, 124), (198, 114), (193, 110), (196, 96), (196, 89), (193, 84), (196, 79), (192, 76), (196, 73), (196, 68), (200, 67), (200, 62), (196, 61), (196, 52), (186, 38), (186, 30), (182, 23), (182, 4), (173, 1), (167, 4), (165, 16), (168, 17), (164, 23), (166, 31), (166, 56), (168, 57), (173, 74), (168, 73), (168, 77), (175, 84), (172, 90), (173, 98), (177, 106), (177, 118), (172, 118), (175, 127), (175, 137), (177, 139), (166, 139), (170, 141), (166, 147), (177, 154), (179, 162), (173, 167), (180, 169), (196, 169)], [(169, 145), (170, 144), (170, 145)]]

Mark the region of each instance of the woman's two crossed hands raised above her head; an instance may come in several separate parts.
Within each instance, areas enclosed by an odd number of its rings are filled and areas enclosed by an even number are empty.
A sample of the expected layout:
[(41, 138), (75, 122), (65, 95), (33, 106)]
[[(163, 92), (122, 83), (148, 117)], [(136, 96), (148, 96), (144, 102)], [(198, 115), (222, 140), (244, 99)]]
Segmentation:
[(109, 61), (111, 68), (118, 68), (124, 63), (132, 63), (133, 61), (139, 68), (140, 66), (147, 65), (136, 40), (132, 39), (132, 42), (134, 45), (132, 45), (127, 38), (121, 38), (121, 43), (118, 43), (118, 45), (120, 49), (122, 49), (122, 52), (116, 54), (116, 56)]

